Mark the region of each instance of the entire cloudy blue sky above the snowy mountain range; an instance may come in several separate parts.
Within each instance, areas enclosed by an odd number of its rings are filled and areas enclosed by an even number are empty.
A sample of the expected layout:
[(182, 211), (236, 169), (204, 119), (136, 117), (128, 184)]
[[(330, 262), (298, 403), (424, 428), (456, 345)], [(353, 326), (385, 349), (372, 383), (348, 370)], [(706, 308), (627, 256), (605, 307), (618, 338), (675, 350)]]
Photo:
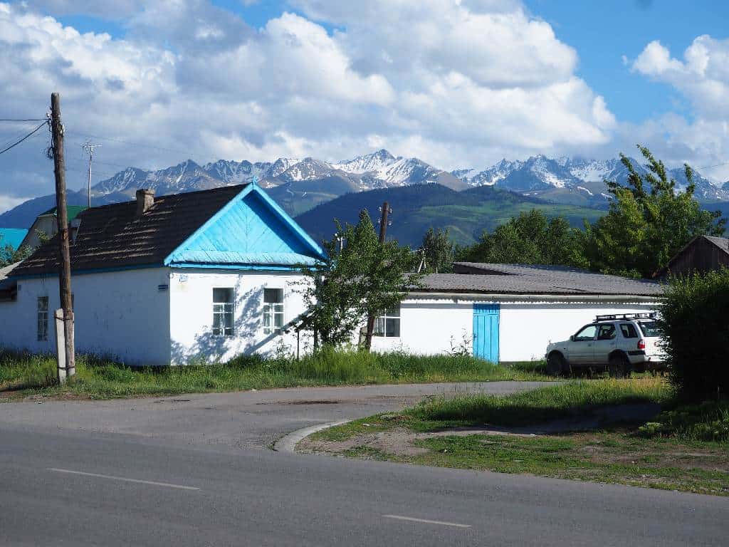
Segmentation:
[[(380, 147), (486, 168), (641, 142), (729, 179), (729, 2), (3, 1), (0, 117), (61, 91), (71, 161), (106, 139), (98, 177)], [(52, 190), (40, 137), (0, 157), (0, 211)]]

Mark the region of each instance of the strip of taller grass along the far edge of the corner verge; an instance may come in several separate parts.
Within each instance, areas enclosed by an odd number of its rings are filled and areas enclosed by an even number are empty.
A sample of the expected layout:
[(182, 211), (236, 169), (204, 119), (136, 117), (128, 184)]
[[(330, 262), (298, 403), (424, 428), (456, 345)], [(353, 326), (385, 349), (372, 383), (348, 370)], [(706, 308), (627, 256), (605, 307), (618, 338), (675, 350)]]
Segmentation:
[(673, 391), (661, 379), (572, 381), (513, 395), (434, 397), (411, 414), (432, 422), (521, 425), (574, 416), (594, 406), (663, 403)]

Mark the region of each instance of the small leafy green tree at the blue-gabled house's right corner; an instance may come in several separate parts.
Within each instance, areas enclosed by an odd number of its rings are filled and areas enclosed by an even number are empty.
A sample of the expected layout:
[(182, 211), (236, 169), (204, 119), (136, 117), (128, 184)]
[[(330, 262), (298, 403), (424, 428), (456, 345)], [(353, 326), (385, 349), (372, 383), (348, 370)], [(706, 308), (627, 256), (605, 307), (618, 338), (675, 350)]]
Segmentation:
[(398, 306), (420, 279), (420, 274), (410, 273), (416, 255), (397, 241), (381, 244), (366, 210), (354, 226), (335, 223), (343, 246), (337, 238), (324, 241), (327, 259), (303, 268), (308, 276), (303, 295), (310, 310), (305, 322), (324, 346), (349, 341), (367, 317)]

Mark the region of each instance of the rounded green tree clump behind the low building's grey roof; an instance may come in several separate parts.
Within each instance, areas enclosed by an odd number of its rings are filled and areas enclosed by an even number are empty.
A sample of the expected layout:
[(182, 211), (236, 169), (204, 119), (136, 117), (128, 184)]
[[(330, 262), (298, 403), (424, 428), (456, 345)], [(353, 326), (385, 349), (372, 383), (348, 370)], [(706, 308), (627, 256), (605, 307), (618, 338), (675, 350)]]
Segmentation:
[(578, 231), (563, 217), (550, 219), (532, 209), (493, 233), (484, 231), (472, 247), (459, 249), (457, 257), (468, 262), (583, 265)]

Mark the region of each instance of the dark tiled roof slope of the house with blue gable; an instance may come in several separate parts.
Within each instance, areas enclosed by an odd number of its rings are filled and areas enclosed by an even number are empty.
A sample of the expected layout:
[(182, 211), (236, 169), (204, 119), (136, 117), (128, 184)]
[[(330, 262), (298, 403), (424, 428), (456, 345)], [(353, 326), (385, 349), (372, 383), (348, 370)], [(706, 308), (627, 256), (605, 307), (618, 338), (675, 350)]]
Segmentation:
[[(163, 195), (141, 217), (136, 201), (86, 209), (71, 244), (71, 271), (157, 265), (202, 226), (243, 185)], [(58, 273), (58, 234), (23, 260), (13, 276)]]

